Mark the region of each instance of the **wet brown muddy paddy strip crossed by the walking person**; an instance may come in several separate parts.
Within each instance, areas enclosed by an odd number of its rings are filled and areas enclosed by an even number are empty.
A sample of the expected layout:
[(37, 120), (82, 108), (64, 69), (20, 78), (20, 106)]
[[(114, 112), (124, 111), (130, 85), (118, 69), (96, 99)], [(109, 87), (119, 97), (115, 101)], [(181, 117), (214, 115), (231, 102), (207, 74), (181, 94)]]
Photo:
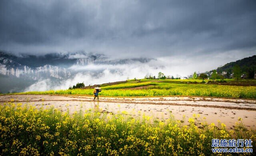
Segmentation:
[[(93, 101), (92, 96), (58, 96), (58, 95), (4, 95), (0, 96), (0, 104), (14, 99), (16, 103), (30, 103), (37, 107), (54, 106), (62, 112), (97, 109), (101, 112), (128, 112), (132, 116), (153, 116), (160, 120), (170, 118), (170, 112), (177, 120), (185, 120), (193, 114), (206, 117), (208, 123), (218, 124), (218, 120), (232, 129), (238, 117), (244, 124), (256, 129), (256, 100), (204, 98), (204, 97), (145, 97), (115, 98), (100, 97)], [(185, 119), (182, 117), (185, 116)]]

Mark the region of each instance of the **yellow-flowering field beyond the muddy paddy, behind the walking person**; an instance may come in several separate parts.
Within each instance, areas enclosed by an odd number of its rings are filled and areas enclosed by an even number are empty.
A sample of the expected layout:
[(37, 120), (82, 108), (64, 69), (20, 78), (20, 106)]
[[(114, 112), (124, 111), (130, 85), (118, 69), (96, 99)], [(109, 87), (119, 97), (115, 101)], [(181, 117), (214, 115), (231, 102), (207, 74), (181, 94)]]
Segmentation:
[[(210, 96), (225, 98), (256, 98), (256, 86), (218, 84), (177, 84), (142, 80), (102, 87), (100, 96)], [(167, 81), (167, 80), (166, 80)], [(186, 80), (187, 81), (187, 80)], [(131, 90), (131, 88), (135, 88)], [(140, 88), (142, 87), (142, 88)], [(93, 95), (93, 89), (49, 90), (17, 94), (80, 94)]]

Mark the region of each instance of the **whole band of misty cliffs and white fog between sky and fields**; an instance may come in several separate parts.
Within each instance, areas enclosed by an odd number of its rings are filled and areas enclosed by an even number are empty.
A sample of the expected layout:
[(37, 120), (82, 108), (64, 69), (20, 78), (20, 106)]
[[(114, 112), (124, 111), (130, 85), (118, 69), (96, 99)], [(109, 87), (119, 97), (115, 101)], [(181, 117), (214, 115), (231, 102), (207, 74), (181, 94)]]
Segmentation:
[[(222, 58), (221, 55), (194, 59), (186, 55), (158, 58), (118, 58), (99, 53), (55, 52), (42, 55), (0, 52), (0, 92), (24, 92), (67, 89), (78, 82), (85, 85), (123, 81), (156, 76), (182, 77), (209, 71), (220, 66), (216, 60), (227, 62), (242, 58), (239, 55)], [(132, 58), (134, 57), (134, 58)], [(204, 60), (204, 61), (200, 61)]]

